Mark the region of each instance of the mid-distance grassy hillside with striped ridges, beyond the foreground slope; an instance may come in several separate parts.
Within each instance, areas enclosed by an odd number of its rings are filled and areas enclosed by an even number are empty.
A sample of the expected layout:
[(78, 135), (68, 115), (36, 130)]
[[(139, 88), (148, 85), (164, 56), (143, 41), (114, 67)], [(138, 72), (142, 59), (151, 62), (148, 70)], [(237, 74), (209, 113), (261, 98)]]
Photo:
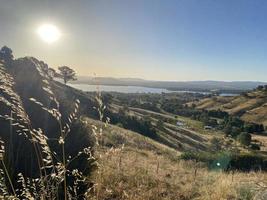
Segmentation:
[[(113, 107), (115, 110), (123, 109), (119, 105), (113, 105)], [(178, 151), (207, 151), (212, 135), (218, 135), (213, 131), (204, 130), (201, 122), (180, 116), (178, 119), (177, 116), (167, 113), (129, 107), (124, 115), (140, 120), (149, 119), (158, 136), (155, 140)], [(183, 121), (186, 127), (177, 126), (177, 120)]]

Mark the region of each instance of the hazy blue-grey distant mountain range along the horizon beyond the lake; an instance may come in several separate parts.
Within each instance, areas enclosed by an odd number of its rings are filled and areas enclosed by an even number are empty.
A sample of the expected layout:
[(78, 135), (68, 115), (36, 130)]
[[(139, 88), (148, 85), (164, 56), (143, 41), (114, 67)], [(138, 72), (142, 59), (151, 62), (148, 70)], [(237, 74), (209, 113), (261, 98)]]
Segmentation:
[(257, 81), (150, 81), (138, 78), (86, 77), (79, 76), (73, 84), (143, 86), (168, 90), (234, 92), (252, 90), (266, 82)]

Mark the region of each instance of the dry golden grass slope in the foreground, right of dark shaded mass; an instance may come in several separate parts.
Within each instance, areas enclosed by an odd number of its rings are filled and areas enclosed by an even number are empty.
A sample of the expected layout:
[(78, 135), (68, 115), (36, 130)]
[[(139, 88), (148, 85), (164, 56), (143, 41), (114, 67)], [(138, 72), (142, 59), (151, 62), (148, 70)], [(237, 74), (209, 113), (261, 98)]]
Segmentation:
[(250, 200), (267, 185), (263, 172), (209, 171), (179, 152), (116, 126), (108, 126), (93, 174), (93, 200)]

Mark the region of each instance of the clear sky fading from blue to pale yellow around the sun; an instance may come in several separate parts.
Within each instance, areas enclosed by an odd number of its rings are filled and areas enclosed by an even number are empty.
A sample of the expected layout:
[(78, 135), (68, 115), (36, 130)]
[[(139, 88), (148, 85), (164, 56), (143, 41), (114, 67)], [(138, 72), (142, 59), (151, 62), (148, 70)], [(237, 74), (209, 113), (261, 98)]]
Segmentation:
[(83, 76), (267, 81), (267, 1), (0, 0), (3, 45)]

